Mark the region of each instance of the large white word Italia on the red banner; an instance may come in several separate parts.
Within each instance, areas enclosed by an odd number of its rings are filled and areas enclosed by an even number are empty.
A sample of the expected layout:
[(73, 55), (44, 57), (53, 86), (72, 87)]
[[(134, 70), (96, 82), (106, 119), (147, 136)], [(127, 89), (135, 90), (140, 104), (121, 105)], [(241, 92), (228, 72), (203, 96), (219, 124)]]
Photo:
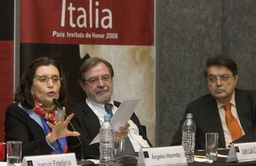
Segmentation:
[[(113, 28), (113, 17), (112, 12), (109, 9), (103, 9), (101, 12), (97, 8), (100, 5), (98, 1), (95, 1), (93, 5), (93, 0), (90, 0), (89, 7), (87, 9), (83, 7), (75, 7), (73, 3), (70, 2), (67, 7), (67, 12), (69, 14), (69, 26), (72, 28), (87, 28), (87, 22), (89, 22), (90, 28), (101, 28), (111, 29)], [(74, 17), (78, 15), (78, 17)], [(65, 27), (66, 19), (66, 0), (62, 0), (62, 10), (61, 10), (61, 27)], [(73, 18), (74, 17), (74, 18)]]

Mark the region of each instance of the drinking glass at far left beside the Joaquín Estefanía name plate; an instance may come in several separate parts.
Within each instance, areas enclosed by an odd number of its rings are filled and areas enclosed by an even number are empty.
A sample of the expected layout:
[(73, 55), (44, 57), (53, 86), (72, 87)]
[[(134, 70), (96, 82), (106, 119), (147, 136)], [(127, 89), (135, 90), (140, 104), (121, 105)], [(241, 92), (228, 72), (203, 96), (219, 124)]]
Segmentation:
[(22, 157), (22, 142), (7, 141), (6, 148), (7, 166), (20, 166)]

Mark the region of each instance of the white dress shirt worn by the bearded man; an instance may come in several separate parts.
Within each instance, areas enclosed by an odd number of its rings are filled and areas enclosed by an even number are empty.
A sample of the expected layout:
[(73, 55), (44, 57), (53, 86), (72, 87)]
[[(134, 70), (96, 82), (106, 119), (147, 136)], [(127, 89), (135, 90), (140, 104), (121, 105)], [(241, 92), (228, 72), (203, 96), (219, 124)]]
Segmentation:
[[(93, 110), (94, 114), (99, 118), (100, 125), (102, 125), (102, 123), (104, 122), (104, 115), (106, 114), (104, 107), (105, 104), (97, 104), (96, 102), (88, 99), (88, 97), (85, 102)], [(114, 106), (113, 99), (111, 99), (109, 103), (113, 104), (112, 113), (114, 115), (117, 111), (117, 107)], [(139, 152), (140, 147), (150, 147), (148, 142), (143, 139), (141, 135), (139, 135), (139, 128), (137, 127), (137, 125), (135, 125), (132, 120), (129, 120), (128, 123), (130, 124), (130, 127), (128, 128), (128, 137), (130, 139), (130, 142), (132, 143), (132, 146), (134, 146), (134, 151)]]

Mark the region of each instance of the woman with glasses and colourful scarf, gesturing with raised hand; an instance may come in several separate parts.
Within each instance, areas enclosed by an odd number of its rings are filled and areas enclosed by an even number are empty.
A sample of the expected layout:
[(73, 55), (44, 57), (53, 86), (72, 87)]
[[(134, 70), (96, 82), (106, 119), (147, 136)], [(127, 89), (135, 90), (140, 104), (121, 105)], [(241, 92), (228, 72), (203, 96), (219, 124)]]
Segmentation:
[(48, 57), (39, 57), (25, 70), (14, 97), (6, 110), (6, 141), (22, 141), (22, 156), (67, 152), (67, 136), (79, 136), (67, 125), (74, 114), (65, 118), (53, 99), (66, 106), (68, 94), (61, 66)]

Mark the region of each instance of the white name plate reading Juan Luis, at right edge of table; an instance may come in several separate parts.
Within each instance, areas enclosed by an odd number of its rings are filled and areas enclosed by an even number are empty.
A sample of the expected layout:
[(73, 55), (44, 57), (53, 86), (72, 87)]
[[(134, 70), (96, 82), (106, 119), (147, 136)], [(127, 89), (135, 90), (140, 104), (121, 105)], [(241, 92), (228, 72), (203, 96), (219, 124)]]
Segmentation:
[(231, 144), (226, 162), (248, 162), (256, 160), (256, 142)]

